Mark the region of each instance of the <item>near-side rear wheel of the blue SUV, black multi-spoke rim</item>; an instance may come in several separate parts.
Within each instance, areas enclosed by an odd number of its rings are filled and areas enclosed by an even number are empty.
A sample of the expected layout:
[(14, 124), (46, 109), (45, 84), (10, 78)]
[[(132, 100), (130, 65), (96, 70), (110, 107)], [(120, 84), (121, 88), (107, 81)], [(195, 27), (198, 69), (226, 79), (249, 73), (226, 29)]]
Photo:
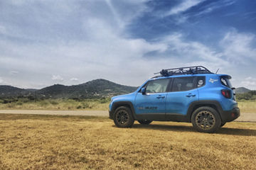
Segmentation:
[(193, 128), (199, 132), (216, 132), (221, 125), (220, 115), (214, 108), (201, 107), (191, 117)]

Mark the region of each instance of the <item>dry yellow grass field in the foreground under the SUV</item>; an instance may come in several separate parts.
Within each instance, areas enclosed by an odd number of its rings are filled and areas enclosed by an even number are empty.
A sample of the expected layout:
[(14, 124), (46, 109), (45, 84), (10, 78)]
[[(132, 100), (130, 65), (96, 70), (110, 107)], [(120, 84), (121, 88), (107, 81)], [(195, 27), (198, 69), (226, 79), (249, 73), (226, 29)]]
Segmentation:
[(255, 150), (256, 123), (206, 134), (190, 123), (0, 115), (0, 169), (255, 169)]

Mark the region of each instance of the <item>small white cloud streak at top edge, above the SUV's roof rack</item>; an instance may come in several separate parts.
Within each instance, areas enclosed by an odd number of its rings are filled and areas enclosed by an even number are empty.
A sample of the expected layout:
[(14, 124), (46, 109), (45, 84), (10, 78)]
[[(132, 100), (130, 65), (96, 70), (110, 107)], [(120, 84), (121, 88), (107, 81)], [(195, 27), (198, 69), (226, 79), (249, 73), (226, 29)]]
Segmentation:
[(178, 13), (182, 13), (184, 11), (187, 11), (189, 8), (193, 6), (197, 6), (201, 2), (205, 0), (183, 0), (181, 4), (178, 4), (178, 6), (174, 6), (174, 8), (171, 8), (170, 11), (168, 11), (165, 16), (171, 16)]

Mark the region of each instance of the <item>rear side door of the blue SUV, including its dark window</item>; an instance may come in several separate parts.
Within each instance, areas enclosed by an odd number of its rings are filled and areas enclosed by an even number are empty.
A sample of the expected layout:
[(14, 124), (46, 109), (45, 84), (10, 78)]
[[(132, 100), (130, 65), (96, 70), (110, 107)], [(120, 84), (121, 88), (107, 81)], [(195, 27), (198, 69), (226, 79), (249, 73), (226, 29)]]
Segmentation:
[(166, 95), (166, 119), (186, 115), (191, 102), (198, 101), (197, 78), (175, 77)]

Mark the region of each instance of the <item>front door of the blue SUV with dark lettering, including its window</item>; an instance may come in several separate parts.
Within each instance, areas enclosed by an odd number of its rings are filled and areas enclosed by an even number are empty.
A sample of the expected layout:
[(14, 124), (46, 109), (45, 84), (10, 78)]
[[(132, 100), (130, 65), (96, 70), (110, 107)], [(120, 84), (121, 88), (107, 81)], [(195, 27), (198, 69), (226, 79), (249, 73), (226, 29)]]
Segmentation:
[(137, 118), (145, 120), (164, 120), (166, 111), (166, 90), (170, 79), (151, 80), (144, 88), (146, 94), (138, 92), (135, 98)]

